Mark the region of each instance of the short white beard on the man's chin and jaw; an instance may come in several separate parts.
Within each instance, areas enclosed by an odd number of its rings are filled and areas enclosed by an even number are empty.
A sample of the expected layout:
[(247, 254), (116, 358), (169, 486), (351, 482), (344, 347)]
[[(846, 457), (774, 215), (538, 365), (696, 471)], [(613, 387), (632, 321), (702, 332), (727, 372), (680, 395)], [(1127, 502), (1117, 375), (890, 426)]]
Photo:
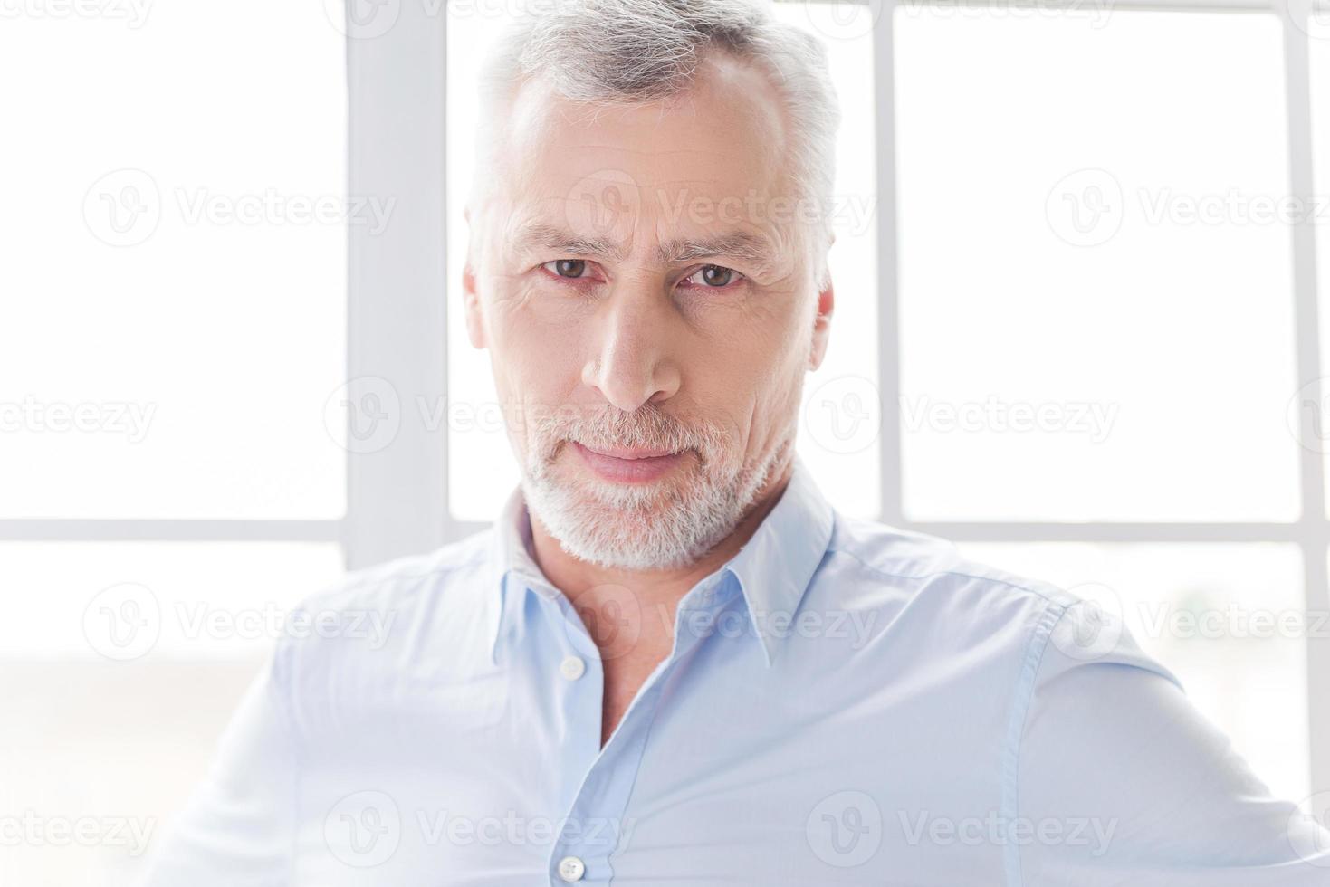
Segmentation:
[[(576, 435), (573, 435), (576, 439)], [(661, 444), (610, 439), (624, 445)], [(604, 440), (604, 438), (602, 438)], [(646, 484), (616, 484), (579, 473), (556, 476), (555, 461), (533, 453), (523, 472), (528, 512), (544, 524), (563, 549), (605, 569), (680, 569), (701, 560), (724, 541), (749, 512), (793, 445), (774, 447), (758, 464), (730, 469), (701, 453), (717, 452), (718, 436), (704, 434), (672, 476)], [(666, 447), (677, 449), (677, 447)], [(580, 459), (565, 443), (556, 452)]]

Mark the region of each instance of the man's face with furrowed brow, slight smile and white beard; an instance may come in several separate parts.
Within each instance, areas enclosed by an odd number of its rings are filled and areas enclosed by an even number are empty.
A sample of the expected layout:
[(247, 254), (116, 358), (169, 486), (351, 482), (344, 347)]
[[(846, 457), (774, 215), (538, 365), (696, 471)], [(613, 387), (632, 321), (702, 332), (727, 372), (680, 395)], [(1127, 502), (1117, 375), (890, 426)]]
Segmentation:
[(632, 108), (525, 85), (471, 219), (468, 332), (527, 504), (602, 567), (684, 567), (733, 532), (825, 348), (781, 102), (728, 57), (704, 70)]

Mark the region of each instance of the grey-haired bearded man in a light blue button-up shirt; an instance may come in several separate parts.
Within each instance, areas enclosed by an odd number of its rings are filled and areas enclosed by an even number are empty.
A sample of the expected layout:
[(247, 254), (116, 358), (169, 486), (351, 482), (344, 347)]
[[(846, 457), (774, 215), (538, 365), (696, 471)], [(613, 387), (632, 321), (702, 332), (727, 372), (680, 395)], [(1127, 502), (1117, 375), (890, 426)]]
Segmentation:
[(815, 40), (571, 0), (481, 85), (466, 317), (521, 484), (307, 602), (391, 632), (278, 645), (152, 884), (1330, 883), (1120, 622), (818, 491)]

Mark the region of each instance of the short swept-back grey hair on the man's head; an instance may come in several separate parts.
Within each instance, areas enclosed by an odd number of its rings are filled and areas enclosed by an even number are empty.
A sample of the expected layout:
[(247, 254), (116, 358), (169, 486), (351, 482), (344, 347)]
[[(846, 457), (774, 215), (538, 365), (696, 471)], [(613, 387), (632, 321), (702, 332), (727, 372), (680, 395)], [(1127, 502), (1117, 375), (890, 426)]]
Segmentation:
[[(501, 145), (505, 109), (517, 86), (540, 77), (572, 101), (645, 104), (684, 93), (709, 49), (766, 73), (790, 121), (794, 186), (817, 209), (813, 274), (826, 286), (831, 246), (830, 199), (841, 109), (826, 48), (775, 19), (773, 0), (555, 0), (541, 15), (516, 17), (480, 72), (485, 117), (477, 133), (477, 170)], [(484, 189), (476, 176), (473, 186)], [(479, 194), (472, 194), (476, 201)]]

